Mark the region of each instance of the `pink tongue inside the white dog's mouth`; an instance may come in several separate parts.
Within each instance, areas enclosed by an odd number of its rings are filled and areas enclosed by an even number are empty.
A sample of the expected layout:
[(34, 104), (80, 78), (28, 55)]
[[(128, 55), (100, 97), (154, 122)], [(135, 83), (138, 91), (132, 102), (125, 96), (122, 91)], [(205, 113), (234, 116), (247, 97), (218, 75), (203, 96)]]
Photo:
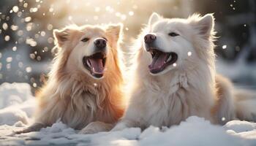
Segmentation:
[(165, 60), (167, 59), (168, 55), (167, 53), (157, 53), (152, 63), (148, 66), (149, 69), (161, 69), (161, 67), (165, 64)]

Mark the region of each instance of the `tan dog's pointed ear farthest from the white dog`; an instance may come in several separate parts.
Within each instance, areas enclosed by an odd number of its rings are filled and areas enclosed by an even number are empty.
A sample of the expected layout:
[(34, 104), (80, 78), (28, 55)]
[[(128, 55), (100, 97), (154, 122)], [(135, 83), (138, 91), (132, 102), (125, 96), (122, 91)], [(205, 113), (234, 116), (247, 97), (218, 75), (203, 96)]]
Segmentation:
[(61, 30), (54, 29), (53, 30), (53, 37), (55, 39), (56, 45), (59, 45), (61, 47), (64, 45), (64, 42), (66, 42), (69, 39), (69, 29), (63, 28)]

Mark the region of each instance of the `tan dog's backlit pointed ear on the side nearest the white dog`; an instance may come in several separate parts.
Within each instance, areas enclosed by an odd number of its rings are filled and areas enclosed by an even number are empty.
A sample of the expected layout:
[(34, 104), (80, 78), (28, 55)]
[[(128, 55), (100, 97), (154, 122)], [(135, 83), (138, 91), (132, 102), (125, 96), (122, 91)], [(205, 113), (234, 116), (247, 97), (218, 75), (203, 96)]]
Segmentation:
[(121, 37), (122, 31), (123, 31), (123, 24), (122, 23), (110, 24), (106, 28), (107, 34), (110, 34), (115, 39), (116, 42)]

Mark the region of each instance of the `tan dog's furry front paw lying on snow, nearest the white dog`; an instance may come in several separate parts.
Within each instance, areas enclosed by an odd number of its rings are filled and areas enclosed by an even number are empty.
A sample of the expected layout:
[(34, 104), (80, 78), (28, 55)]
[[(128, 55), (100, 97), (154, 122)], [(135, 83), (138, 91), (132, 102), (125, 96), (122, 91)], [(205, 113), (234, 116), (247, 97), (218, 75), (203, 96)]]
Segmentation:
[(95, 121), (80, 130), (79, 134), (95, 134), (100, 131), (110, 131), (111, 128), (113, 128), (113, 124)]

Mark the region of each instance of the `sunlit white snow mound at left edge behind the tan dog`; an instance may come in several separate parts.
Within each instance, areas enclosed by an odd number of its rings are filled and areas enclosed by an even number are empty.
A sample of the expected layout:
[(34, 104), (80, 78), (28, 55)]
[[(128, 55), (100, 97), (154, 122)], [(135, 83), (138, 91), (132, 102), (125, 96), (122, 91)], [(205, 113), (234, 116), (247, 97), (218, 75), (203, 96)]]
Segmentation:
[(0, 85), (0, 125), (29, 124), (34, 107), (35, 99), (29, 84), (4, 82)]

